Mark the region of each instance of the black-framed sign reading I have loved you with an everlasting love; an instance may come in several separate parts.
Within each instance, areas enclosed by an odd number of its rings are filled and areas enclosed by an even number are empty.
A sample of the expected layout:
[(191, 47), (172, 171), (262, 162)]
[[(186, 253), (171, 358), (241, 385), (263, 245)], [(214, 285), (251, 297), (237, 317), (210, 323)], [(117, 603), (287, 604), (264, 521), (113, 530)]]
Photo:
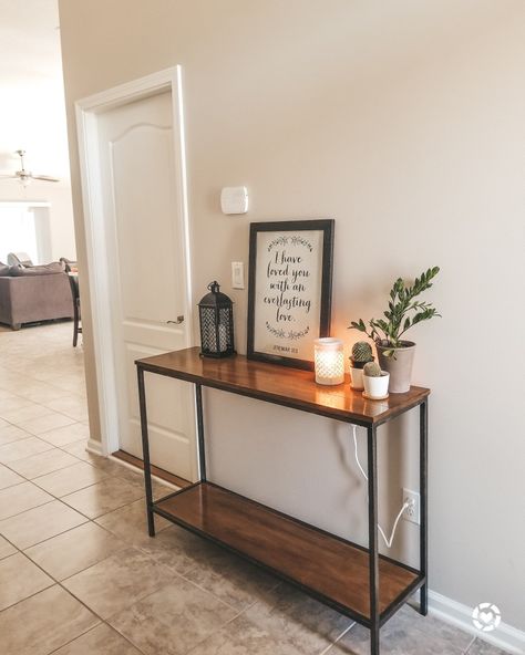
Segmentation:
[(313, 340), (330, 332), (333, 223), (250, 223), (248, 358), (313, 370)]

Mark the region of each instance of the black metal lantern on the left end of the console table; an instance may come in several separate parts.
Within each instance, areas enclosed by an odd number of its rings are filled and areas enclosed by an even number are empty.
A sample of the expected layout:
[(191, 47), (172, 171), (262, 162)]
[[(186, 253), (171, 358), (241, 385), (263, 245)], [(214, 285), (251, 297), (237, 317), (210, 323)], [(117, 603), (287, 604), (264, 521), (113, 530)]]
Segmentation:
[(227, 357), (234, 350), (234, 309), (230, 299), (219, 291), (217, 282), (208, 284), (209, 293), (198, 303), (200, 354)]

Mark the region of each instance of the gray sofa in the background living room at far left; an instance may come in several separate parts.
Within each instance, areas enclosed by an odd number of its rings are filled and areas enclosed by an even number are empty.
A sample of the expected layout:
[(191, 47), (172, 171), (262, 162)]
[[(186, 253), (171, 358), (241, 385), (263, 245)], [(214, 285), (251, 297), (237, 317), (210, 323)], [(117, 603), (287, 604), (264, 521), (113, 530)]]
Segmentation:
[(0, 323), (18, 330), (23, 323), (72, 316), (70, 281), (60, 263), (28, 268), (0, 263)]

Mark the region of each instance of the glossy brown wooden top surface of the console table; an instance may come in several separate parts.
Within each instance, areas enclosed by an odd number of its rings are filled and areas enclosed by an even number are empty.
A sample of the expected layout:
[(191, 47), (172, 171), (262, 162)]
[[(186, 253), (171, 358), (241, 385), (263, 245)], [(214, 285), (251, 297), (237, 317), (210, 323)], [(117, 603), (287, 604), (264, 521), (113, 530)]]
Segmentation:
[(186, 349), (137, 360), (137, 366), (161, 375), (186, 380), (235, 394), (285, 405), (360, 425), (378, 425), (415, 407), (429, 394), (412, 386), (387, 401), (367, 401), (350, 388), (316, 384), (312, 372), (247, 360), (244, 355), (213, 360), (199, 356), (199, 349)]

